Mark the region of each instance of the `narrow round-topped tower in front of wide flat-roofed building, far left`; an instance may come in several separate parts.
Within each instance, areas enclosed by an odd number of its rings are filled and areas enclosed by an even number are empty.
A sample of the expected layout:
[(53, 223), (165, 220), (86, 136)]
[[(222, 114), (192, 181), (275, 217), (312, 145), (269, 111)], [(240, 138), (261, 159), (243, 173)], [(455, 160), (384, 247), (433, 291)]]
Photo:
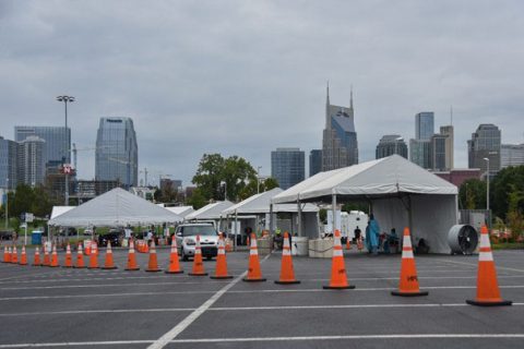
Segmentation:
[(29, 135), (19, 143), (17, 183), (35, 186), (44, 184), (46, 178), (46, 141)]

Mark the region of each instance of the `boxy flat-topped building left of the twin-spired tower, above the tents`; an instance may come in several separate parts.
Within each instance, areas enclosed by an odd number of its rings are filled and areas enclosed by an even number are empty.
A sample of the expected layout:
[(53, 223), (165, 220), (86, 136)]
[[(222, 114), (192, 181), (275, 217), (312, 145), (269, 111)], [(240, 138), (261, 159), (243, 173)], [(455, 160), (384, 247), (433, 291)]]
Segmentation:
[(276, 148), (271, 152), (271, 177), (286, 190), (305, 179), (306, 154), (299, 148)]

